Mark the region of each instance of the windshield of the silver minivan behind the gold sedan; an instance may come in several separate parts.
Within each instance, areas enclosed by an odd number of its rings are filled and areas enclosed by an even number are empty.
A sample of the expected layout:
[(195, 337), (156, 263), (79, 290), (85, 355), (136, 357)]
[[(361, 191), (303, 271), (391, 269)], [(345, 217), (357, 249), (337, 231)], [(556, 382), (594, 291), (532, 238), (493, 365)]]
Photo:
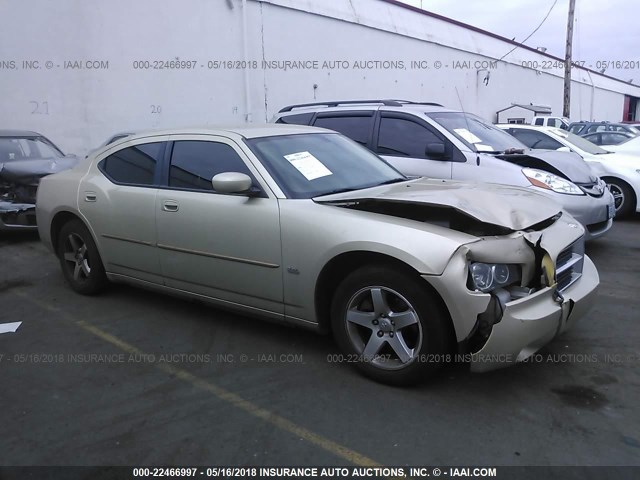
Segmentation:
[(499, 152), (510, 148), (527, 149), (507, 132), (480, 117), (462, 112), (429, 112), (426, 114), (462, 140), (472, 151)]

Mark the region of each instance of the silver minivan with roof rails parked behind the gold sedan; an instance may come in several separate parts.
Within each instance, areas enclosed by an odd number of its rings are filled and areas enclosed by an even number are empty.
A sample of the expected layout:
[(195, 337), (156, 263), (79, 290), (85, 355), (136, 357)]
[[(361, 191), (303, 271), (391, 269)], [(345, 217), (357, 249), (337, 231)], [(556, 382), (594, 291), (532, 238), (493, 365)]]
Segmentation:
[(408, 176), (532, 188), (582, 223), (587, 240), (606, 233), (615, 215), (605, 183), (577, 155), (531, 150), (476, 115), (438, 104), (318, 102), (285, 107), (272, 121), (340, 132)]

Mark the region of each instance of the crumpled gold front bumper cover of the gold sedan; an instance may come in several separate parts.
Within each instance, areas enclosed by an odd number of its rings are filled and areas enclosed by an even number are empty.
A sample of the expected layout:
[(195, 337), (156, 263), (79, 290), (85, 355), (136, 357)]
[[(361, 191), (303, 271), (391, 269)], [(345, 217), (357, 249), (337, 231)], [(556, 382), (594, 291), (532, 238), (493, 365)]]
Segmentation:
[(582, 277), (562, 292), (561, 303), (553, 298), (554, 288), (507, 303), (485, 345), (471, 355), (471, 370), (484, 372), (526, 360), (589, 311), (598, 283), (598, 271), (585, 256)]

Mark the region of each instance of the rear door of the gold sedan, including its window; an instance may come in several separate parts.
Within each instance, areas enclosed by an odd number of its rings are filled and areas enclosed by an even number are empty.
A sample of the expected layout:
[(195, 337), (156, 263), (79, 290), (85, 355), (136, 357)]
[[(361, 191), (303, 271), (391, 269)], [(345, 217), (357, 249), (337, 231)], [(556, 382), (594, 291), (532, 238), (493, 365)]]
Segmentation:
[(109, 273), (162, 283), (155, 206), (167, 139), (126, 143), (98, 158), (80, 182), (78, 208)]

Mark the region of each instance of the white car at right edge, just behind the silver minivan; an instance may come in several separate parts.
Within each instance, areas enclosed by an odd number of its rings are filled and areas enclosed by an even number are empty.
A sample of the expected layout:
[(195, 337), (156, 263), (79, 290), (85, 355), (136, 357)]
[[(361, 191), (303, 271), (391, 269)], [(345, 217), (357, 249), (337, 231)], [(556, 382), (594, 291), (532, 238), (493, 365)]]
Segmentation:
[(638, 201), (640, 199), (640, 154), (632, 153), (628, 149), (609, 151), (621, 145), (607, 146), (605, 150), (578, 135), (559, 128), (532, 125), (497, 126), (529, 148), (562, 149), (577, 153), (609, 186), (615, 199), (617, 217), (640, 212), (640, 201)]

